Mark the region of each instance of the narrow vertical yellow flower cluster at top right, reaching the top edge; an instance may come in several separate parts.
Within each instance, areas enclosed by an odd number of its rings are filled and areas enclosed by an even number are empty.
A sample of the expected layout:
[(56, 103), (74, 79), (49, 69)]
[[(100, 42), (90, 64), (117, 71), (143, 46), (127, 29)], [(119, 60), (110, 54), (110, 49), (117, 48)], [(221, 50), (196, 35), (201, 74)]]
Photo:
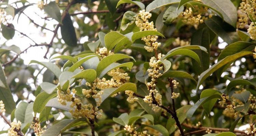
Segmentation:
[(240, 6), (237, 11), (238, 21), (237, 21), (237, 28), (243, 29), (248, 27), (248, 20), (249, 17), (246, 13), (246, 0), (242, 0)]

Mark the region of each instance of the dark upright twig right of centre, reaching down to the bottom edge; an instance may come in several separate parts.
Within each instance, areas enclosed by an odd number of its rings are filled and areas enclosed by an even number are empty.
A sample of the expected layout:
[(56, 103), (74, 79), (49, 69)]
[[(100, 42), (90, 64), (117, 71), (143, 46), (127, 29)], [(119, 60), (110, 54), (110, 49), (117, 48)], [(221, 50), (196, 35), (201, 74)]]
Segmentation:
[[(171, 96), (172, 96), (172, 93), (174, 92), (174, 90), (173, 90), (174, 87), (173, 87), (173, 83), (172, 83), (173, 79), (172, 79), (172, 78), (168, 78), (168, 80), (169, 80), (169, 82), (170, 82)], [(171, 98), (171, 99), (172, 99), (172, 98)], [(181, 132), (181, 135), (182, 135), (182, 136), (185, 136), (185, 135), (184, 135), (184, 132), (183, 132), (183, 130), (182, 130), (182, 128), (181, 128), (181, 123), (180, 123), (180, 121), (179, 121), (179, 118), (177, 117), (174, 99), (172, 99), (172, 108), (173, 108), (173, 115), (172, 115), (172, 117), (174, 118), (174, 120), (175, 120), (175, 122), (176, 122), (176, 125), (178, 126), (178, 128), (179, 128), (179, 130), (180, 130), (180, 132)]]

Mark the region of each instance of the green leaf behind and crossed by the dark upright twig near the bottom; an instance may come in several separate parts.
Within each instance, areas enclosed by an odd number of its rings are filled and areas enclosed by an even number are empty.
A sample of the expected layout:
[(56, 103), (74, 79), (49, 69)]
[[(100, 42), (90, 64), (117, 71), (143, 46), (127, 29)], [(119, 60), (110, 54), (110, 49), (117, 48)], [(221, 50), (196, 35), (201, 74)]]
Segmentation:
[[(177, 117), (179, 118), (180, 123), (182, 123), (187, 118), (187, 111), (190, 107), (192, 106), (185, 105), (176, 110)], [(170, 116), (166, 123), (166, 129), (169, 131), (169, 134), (173, 133), (177, 129), (177, 127), (175, 127), (175, 124), (176, 121), (172, 118), (172, 116)]]

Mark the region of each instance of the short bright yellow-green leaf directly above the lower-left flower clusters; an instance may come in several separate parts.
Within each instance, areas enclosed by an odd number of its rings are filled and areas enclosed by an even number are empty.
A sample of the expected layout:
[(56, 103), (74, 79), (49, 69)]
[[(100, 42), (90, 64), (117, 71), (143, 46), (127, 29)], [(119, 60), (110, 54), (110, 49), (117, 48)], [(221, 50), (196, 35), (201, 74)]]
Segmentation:
[(74, 75), (72, 78), (82, 78), (87, 82), (92, 83), (96, 79), (96, 71), (94, 69), (86, 69)]

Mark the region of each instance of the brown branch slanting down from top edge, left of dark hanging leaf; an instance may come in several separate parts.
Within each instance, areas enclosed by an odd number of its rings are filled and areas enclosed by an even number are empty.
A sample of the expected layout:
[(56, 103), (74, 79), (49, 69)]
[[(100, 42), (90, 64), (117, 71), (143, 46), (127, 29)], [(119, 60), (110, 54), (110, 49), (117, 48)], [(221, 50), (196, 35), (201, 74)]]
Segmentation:
[[(75, 1), (75, 0), (72, 0), (72, 1), (68, 4), (67, 8), (65, 9), (65, 11), (63, 12), (63, 14), (62, 14), (62, 16), (61, 16), (61, 21), (62, 21), (62, 20), (65, 18), (65, 16), (67, 15), (67, 13), (68, 13), (68, 11), (69, 11), (69, 8), (70, 8), (71, 5), (74, 3), (74, 1)], [(54, 40), (55, 36), (57, 35), (57, 32), (58, 32), (59, 27), (60, 27), (60, 23), (56, 26), (56, 28), (55, 28), (55, 30), (54, 30), (53, 37), (52, 37), (52, 39), (51, 39), (51, 41), (50, 41), (50, 43), (49, 43), (49, 46), (48, 46), (48, 48), (47, 48), (47, 51), (46, 51), (45, 54), (44, 54), (44, 58), (47, 58), (46, 55), (47, 55), (47, 53), (49, 52), (49, 49), (53, 46), (53, 40)]]

